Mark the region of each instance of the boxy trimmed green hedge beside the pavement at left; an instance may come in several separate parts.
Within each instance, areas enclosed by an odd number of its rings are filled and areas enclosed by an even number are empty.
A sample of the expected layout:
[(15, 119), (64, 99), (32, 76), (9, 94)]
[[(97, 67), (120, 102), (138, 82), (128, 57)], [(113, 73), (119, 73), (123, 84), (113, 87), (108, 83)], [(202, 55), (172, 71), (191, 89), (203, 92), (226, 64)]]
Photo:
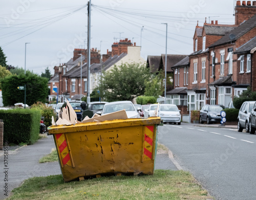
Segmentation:
[(0, 110), (4, 122), (4, 142), (33, 144), (38, 139), (40, 111), (31, 109)]

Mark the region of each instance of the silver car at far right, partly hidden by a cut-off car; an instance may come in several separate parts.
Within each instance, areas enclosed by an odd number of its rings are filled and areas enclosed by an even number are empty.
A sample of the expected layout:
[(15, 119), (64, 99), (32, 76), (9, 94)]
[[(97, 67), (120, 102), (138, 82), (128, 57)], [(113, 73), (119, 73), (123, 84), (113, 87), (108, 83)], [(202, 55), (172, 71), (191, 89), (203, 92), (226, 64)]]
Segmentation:
[(244, 102), (238, 113), (238, 132), (242, 132), (245, 128), (245, 131), (249, 133), (249, 122), (250, 122), (250, 112), (256, 101)]

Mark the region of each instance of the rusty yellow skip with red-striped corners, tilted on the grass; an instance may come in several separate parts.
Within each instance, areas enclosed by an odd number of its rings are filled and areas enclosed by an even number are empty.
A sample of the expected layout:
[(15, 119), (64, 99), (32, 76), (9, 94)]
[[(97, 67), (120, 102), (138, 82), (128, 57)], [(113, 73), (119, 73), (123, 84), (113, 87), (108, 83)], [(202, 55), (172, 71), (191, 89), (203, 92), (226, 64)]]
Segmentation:
[(51, 126), (65, 182), (99, 174), (153, 174), (160, 117)]

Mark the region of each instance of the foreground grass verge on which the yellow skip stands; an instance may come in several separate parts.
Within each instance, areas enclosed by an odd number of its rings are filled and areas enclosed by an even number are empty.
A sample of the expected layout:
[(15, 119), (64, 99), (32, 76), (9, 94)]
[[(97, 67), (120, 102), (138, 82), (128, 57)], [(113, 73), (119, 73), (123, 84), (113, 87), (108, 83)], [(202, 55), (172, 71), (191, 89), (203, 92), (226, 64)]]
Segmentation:
[(62, 175), (33, 177), (11, 199), (207, 199), (189, 172), (156, 170), (154, 175), (106, 176), (64, 183)]

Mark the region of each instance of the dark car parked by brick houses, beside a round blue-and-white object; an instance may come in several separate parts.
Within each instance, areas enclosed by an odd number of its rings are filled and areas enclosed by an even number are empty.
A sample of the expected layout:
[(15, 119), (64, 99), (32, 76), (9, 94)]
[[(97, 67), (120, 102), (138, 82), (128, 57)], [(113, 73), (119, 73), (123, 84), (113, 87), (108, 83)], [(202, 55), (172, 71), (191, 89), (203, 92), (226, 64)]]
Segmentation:
[(207, 124), (221, 122), (221, 111), (225, 109), (222, 105), (204, 105), (200, 110), (199, 122), (203, 124), (207, 122)]

